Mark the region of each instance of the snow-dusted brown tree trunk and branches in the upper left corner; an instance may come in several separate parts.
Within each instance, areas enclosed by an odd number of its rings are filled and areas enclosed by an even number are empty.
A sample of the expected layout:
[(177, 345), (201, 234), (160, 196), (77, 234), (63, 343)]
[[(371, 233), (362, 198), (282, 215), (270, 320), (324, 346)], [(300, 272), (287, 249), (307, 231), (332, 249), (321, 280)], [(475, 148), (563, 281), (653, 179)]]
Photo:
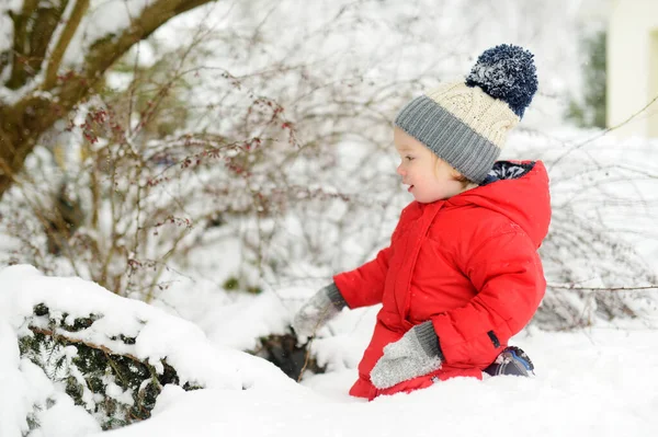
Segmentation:
[(0, 20), (13, 24), (11, 35), (0, 35), (12, 41), (0, 44), (0, 197), (42, 134), (117, 59), (173, 16), (209, 1), (26, 0), (0, 9)]

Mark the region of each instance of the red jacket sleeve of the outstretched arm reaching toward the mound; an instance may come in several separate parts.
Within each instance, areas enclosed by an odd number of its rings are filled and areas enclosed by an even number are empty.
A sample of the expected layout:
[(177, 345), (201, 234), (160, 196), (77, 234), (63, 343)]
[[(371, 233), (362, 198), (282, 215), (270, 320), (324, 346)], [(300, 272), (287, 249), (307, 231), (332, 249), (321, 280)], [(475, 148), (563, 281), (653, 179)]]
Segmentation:
[(333, 281), (349, 308), (382, 303), (389, 253), (390, 248), (383, 249), (374, 260), (361, 267), (333, 277)]

